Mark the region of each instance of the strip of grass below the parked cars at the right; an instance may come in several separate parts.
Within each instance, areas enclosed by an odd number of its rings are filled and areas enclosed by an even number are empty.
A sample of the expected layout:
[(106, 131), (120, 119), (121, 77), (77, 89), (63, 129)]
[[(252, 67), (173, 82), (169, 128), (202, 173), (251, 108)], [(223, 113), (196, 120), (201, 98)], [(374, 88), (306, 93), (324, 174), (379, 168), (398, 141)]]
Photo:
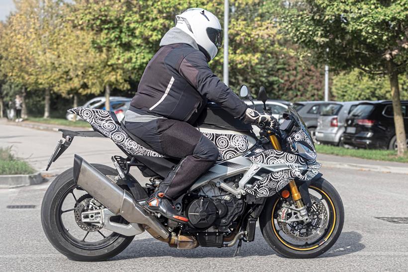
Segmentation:
[(397, 157), (397, 152), (394, 150), (348, 149), (338, 146), (316, 145), (316, 151), (317, 153), (329, 155), (350, 156), (377, 161), (408, 163), (408, 154), (404, 157)]

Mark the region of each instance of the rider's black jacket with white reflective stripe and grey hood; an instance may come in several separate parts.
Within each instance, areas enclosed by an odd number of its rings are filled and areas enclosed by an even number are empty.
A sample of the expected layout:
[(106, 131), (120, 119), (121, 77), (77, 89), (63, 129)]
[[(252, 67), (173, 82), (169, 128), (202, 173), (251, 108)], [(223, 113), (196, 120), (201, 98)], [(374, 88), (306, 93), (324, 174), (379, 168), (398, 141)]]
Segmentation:
[[(166, 35), (170, 38), (166, 39)], [(130, 105), (149, 115), (194, 124), (210, 100), (241, 118), (247, 105), (212, 73), (194, 39), (178, 28), (166, 35), (163, 46), (148, 63)], [(130, 110), (135, 110), (132, 107)]]

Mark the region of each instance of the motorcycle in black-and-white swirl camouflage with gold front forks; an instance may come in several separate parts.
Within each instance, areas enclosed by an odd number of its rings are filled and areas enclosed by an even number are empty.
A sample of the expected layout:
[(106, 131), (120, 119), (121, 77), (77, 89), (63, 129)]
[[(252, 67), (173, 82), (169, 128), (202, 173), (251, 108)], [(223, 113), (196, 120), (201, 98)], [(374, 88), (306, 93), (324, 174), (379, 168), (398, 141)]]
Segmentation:
[[(240, 96), (253, 100), (246, 86)], [(258, 100), (271, 114), (261, 88)], [(176, 223), (148, 212), (148, 195), (178, 160), (150, 149), (127, 131), (110, 111), (73, 108), (93, 131), (60, 129), (63, 135), (47, 170), (74, 137), (107, 137), (126, 154), (113, 156), (114, 168), (90, 164), (75, 154), (74, 166), (47, 189), (41, 221), (50, 243), (76, 261), (102, 261), (122, 252), (135, 235), (147, 231), (178, 249), (232, 247), (253, 242), (256, 223), (266, 242), (288, 258), (314, 258), (337, 241), (344, 209), (336, 189), (319, 173), (321, 164), (310, 133), (296, 110), (289, 107), (282, 124), (259, 123), (259, 137), (250, 125), (208, 104), (197, 122), (219, 149), (219, 158), (187, 193), (174, 201), (189, 219)], [(137, 167), (149, 183), (142, 186), (130, 173)], [(69, 221), (69, 222), (68, 222)], [(75, 222), (72, 222), (75, 221)], [(66, 223), (67, 222), (67, 223)]]

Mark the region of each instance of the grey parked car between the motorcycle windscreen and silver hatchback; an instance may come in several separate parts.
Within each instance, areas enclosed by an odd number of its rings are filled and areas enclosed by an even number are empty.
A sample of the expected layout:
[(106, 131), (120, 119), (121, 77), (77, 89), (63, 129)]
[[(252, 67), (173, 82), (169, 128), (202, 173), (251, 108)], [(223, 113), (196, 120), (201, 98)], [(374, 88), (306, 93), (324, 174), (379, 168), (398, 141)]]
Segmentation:
[(333, 103), (338, 104), (338, 102), (333, 101), (304, 101), (293, 104), (293, 107), (305, 122), (314, 141), (316, 141), (315, 131), (317, 128), (317, 118), (320, 115), (320, 109)]

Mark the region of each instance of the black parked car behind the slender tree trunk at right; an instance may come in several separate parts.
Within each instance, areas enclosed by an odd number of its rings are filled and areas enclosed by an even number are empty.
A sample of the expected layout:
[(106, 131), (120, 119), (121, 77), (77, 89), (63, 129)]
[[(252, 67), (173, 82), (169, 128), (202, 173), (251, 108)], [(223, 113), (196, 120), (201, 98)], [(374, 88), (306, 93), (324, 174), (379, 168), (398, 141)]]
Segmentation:
[[(401, 101), (404, 125), (408, 128), (408, 100)], [(359, 104), (346, 119), (344, 144), (360, 148), (396, 149), (392, 101)]]

